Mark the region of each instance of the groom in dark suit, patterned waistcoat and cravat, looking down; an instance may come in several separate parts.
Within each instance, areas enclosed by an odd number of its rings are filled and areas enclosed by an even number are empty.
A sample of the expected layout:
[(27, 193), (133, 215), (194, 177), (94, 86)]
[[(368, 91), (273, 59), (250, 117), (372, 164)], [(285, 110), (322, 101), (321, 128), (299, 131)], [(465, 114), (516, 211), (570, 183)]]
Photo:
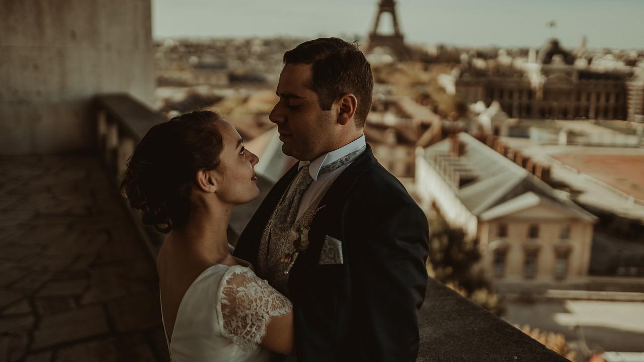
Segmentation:
[(299, 44), (284, 63), (269, 118), (299, 163), (234, 255), (293, 302), (299, 361), (415, 361), (428, 225), (365, 142), (371, 66), (337, 38)]

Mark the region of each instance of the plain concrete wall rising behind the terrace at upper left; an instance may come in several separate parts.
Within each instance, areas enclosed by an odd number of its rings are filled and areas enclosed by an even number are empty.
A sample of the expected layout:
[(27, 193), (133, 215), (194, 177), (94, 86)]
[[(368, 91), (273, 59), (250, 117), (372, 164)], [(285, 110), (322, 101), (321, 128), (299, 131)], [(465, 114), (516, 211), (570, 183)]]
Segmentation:
[(93, 148), (96, 93), (153, 102), (150, 0), (3, 0), (0, 34), (0, 154)]

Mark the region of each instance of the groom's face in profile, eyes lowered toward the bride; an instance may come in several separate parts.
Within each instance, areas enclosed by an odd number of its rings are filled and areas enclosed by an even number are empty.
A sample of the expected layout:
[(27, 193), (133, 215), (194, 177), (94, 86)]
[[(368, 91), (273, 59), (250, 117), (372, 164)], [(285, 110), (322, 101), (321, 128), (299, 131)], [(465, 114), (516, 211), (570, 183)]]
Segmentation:
[(317, 94), (308, 88), (312, 76), (310, 64), (286, 64), (279, 74), (279, 102), (269, 115), (278, 125), (282, 151), (298, 160), (312, 161), (330, 151), (335, 134), (337, 106), (322, 110)]

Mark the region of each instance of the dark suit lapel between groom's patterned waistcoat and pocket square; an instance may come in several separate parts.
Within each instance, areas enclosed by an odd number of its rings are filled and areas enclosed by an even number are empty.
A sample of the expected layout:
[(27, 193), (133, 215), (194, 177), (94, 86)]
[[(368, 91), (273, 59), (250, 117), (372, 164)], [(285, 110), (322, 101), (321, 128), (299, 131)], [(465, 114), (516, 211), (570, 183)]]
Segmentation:
[(289, 291), (294, 291), (294, 286), (304, 280), (311, 267), (317, 265), (317, 258), (322, 250), (322, 245), (327, 234), (333, 233), (337, 223), (334, 223), (334, 216), (341, 213), (345, 205), (345, 196), (360, 175), (377, 164), (371, 147), (367, 145), (362, 155), (355, 158), (354, 162), (346, 167), (329, 187), (327, 193), (322, 197), (317, 207), (323, 207), (310, 225), (308, 240), (310, 241), (307, 251), (302, 252), (289, 273)]

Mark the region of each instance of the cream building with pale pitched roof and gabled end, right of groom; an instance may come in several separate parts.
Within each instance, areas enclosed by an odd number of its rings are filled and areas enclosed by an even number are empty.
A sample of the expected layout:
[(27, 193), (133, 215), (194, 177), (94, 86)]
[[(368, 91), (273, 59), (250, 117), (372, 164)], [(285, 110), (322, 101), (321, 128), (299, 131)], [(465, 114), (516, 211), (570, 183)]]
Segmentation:
[(421, 207), (477, 238), (478, 268), (497, 283), (582, 281), (596, 217), (547, 184), (549, 169), (494, 146), (459, 133), (417, 149)]

